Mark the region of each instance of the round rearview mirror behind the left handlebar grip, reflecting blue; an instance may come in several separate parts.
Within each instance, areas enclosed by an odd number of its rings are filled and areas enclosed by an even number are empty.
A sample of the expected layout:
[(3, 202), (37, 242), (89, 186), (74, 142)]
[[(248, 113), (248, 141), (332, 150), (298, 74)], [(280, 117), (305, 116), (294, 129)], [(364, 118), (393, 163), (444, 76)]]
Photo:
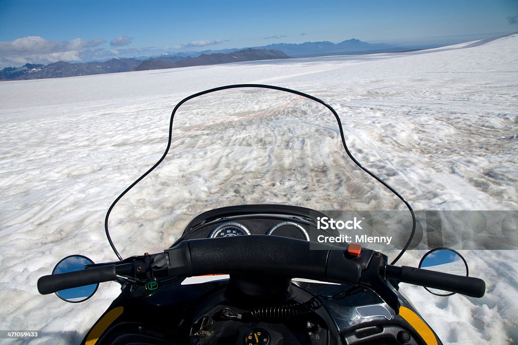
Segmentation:
[[(93, 265), (93, 261), (83, 255), (70, 255), (63, 258), (52, 271), (53, 275), (60, 273), (79, 271), (84, 269), (85, 265)], [(97, 291), (99, 284), (91, 284), (72, 289), (56, 291), (57, 297), (70, 303), (79, 303), (93, 296)]]

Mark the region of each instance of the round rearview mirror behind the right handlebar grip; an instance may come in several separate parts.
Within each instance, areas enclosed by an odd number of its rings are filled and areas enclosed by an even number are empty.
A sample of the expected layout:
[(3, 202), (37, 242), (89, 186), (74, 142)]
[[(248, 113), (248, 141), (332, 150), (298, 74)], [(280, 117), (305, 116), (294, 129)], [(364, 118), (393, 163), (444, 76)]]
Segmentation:
[[(435, 248), (424, 254), (419, 268), (457, 276), (468, 276), (468, 264), (464, 257), (450, 248)], [(425, 287), (428, 292), (438, 296), (451, 296), (454, 292)]]

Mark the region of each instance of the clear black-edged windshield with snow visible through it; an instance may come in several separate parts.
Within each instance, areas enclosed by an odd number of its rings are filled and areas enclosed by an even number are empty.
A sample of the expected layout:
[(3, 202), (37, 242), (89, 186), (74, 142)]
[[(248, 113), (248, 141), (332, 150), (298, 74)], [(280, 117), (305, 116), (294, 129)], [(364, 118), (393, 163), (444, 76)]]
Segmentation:
[[(347, 135), (352, 129), (342, 122)], [(285, 91), (238, 88), (178, 108), (164, 161), (113, 208), (110, 234), (123, 257), (158, 252), (200, 212), (243, 204), (324, 213), (405, 208), (351, 161), (323, 104)], [(408, 237), (408, 228), (403, 232)]]

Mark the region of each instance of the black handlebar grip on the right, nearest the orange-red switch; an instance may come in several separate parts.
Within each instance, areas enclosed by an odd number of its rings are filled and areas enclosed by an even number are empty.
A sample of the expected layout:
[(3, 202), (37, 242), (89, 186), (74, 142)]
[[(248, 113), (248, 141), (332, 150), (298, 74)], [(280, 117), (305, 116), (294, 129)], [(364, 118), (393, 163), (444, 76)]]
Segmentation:
[(408, 266), (387, 266), (385, 274), (388, 278), (396, 278), (402, 282), (456, 292), (470, 297), (482, 297), (485, 293), (485, 282), (474, 277), (456, 276), (443, 272)]

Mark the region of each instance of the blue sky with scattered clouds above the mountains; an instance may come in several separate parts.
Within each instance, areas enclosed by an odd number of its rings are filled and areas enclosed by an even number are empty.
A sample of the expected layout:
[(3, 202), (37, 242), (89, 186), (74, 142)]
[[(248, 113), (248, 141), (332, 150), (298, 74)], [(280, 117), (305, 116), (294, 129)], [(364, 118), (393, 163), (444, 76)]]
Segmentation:
[(450, 44), (516, 32), (517, 16), (518, 0), (0, 0), (0, 67), (350, 38)]

